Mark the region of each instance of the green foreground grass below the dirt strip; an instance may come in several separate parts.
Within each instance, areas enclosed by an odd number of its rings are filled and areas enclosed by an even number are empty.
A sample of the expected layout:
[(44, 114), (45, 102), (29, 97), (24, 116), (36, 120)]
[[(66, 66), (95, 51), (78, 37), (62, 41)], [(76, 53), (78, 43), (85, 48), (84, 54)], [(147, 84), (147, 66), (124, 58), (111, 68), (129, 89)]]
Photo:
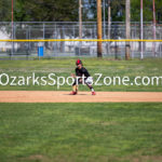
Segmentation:
[(162, 104), (0, 104), (0, 162), (161, 162)]

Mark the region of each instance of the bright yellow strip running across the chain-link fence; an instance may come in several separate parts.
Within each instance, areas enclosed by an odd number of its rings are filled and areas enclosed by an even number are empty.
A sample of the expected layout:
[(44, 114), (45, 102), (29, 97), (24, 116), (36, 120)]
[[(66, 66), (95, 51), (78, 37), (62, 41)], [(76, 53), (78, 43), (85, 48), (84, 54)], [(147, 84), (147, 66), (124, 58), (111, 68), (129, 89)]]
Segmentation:
[(14, 40), (0, 40), (0, 42), (162, 42), (162, 40), (140, 40), (140, 39), (14, 39)]

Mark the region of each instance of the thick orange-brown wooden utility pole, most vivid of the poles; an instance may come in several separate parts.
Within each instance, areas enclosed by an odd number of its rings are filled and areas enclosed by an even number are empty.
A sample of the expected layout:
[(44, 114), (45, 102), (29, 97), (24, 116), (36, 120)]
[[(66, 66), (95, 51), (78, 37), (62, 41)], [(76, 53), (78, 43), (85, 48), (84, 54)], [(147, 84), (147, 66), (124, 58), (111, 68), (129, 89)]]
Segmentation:
[(103, 39), (103, 23), (102, 23), (102, 0), (97, 0), (97, 56), (103, 57), (102, 54), (102, 39)]

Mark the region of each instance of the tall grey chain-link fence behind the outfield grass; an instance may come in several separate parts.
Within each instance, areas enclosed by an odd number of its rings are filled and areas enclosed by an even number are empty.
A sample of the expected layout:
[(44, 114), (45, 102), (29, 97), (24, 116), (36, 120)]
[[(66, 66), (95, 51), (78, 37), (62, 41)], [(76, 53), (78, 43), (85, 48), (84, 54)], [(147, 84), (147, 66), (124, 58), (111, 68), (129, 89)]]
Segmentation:
[[(109, 36), (110, 32), (110, 36)], [(125, 24), (103, 25), (103, 39), (125, 39)], [(79, 23), (0, 23), (1, 39), (79, 39)], [(97, 39), (97, 24), (83, 23), (82, 39)], [(140, 39), (140, 24), (131, 24), (131, 39)], [(144, 39), (153, 39), (152, 23), (144, 23)], [(162, 40), (162, 25), (157, 25), (157, 39)], [(162, 57), (162, 42), (144, 42), (144, 57)], [(131, 42), (132, 57), (140, 56), (140, 42)], [(0, 42), (0, 57), (37, 57), (39, 46), (44, 57), (55, 56), (97, 56), (97, 42), (48, 41), (48, 42)], [(122, 58), (125, 55), (125, 42), (103, 42), (103, 55)]]

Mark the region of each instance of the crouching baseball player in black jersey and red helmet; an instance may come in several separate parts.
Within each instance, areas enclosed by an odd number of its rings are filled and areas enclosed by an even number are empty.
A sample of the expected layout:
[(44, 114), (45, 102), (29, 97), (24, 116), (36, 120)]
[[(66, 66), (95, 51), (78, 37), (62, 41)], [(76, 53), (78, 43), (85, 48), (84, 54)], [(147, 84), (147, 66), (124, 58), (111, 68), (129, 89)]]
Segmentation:
[(78, 84), (86, 84), (92, 92), (92, 95), (96, 95), (92, 84), (93, 78), (90, 76), (89, 71), (83, 67), (83, 64), (80, 59), (76, 62), (76, 75), (71, 75), (75, 78), (75, 82), (72, 84), (72, 92), (70, 95), (77, 95), (78, 93)]

